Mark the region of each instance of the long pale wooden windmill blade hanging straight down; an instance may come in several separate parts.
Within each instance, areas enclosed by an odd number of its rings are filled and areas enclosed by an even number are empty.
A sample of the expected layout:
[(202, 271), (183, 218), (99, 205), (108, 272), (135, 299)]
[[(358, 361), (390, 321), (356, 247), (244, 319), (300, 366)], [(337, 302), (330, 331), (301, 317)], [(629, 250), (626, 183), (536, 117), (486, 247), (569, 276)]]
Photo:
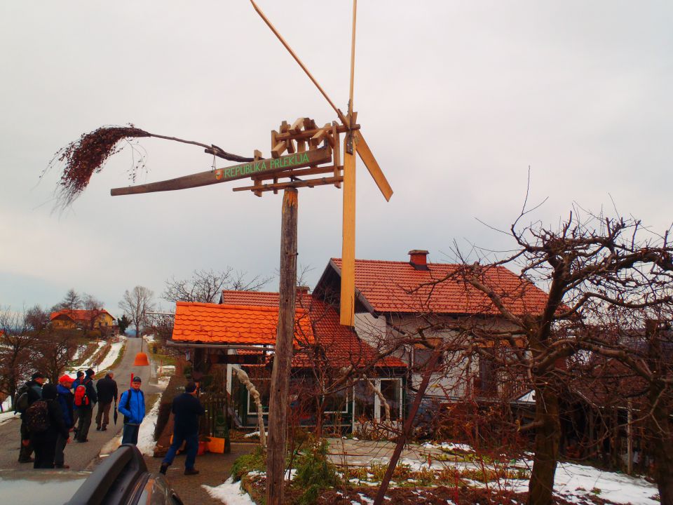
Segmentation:
[(355, 154), (344, 149), (344, 220), (341, 238), (341, 311), (339, 322), (355, 319)]

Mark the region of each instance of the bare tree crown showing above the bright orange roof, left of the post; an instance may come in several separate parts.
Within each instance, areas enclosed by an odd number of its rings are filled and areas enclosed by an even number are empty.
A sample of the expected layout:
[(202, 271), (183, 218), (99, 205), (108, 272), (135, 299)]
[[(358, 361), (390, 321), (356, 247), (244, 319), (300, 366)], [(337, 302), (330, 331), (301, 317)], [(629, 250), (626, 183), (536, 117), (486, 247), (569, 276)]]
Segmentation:
[(234, 271), (227, 267), (222, 271), (195, 270), (191, 278), (165, 281), (165, 290), (161, 297), (167, 302), (217, 303), (222, 290), (257, 291), (268, 283), (269, 279), (254, 276), (245, 278), (245, 272)]

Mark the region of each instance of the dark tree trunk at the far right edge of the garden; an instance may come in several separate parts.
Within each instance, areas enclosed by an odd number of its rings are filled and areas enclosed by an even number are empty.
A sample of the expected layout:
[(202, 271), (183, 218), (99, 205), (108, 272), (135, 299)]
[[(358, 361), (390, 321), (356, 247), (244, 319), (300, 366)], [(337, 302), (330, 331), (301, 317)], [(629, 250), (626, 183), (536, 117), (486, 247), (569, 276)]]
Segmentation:
[(673, 505), (673, 433), (665, 400), (665, 385), (653, 380), (648, 391), (649, 431), (653, 439), (654, 477), (661, 505)]

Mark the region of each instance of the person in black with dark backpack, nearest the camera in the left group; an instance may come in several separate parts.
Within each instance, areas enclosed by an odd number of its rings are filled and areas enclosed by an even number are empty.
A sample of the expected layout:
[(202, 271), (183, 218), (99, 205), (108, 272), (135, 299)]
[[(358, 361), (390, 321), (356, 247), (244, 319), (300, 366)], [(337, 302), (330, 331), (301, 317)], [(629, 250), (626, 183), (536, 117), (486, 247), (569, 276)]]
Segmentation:
[(36, 400), (26, 410), (26, 424), (35, 450), (34, 469), (53, 469), (58, 436), (62, 436), (66, 443), (69, 440), (56, 395), (56, 386), (45, 384), (41, 400)]

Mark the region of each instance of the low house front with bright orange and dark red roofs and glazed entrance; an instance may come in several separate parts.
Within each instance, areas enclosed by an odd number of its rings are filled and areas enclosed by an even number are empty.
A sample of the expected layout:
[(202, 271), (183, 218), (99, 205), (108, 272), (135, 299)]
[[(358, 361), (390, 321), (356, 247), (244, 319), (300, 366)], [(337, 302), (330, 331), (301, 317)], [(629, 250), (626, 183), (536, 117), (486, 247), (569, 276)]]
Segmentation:
[[(198, 373), (224, 365), (229, 412), (236, 424), (257, 426), (257, 408), (236, 370), (245, 370), (256, 386), (266, 418), (279, 295), (224, 291), (220, 301), (177, 302), (172, 345), (190, 349)], [(377, 356), (351, 328), (339, 324), (334, 307), (307, 289), (297, 293), (295, 318), (290, 400), (297, 424), (346, 432), (401, 421), (406, 375), (402, 361)]]

